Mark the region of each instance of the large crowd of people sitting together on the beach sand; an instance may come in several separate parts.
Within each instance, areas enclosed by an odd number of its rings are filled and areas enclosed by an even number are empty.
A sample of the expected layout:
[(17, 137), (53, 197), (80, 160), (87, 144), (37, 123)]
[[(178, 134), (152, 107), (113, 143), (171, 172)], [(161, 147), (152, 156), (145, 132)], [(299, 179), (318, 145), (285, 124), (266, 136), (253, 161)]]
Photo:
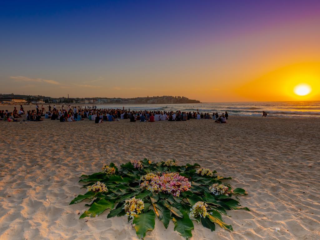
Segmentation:
[[(94, 121), (95, 123), (102, 123), (103, 121), (119, 121), (120, 119), (130, 119), (130, 122), (156, 122), (156, 121), (187, 121), (190, 119), (213, 119), (216, 123), (226, 123), (228, 119), (228, 112), (222, 113), (200, 113), (199, 109), (194, 112), (183, 112), (183, 111), (131, 111), (130, 108), (119, 109), (119, 108), (100, 108), (97, 109), (96, 106), (82, 108), (81, 106), (71, 106), (68, 105), (67, 108), (64, 108), (62, 105), (61, 108), (56, 108), (53, 105), (48, 106), (48, 111), (42, 105), (39, 108), (36, 105), (36, 109), (29, 110), (25, 113), (22, 105), (20, 105), (20, 111), (14, 107), (13, 112), (8, 112), (8, 110), (0, 111), (1, 120), (8, 121), (20, 121), (19, 118), (24, 117), (23, 121), (43, 121), (44, 119), (59, 120), (60, 122), (75, 122), (81, 121), (85, 118)], [(43, 118), (44, 117), (44, 118)]]

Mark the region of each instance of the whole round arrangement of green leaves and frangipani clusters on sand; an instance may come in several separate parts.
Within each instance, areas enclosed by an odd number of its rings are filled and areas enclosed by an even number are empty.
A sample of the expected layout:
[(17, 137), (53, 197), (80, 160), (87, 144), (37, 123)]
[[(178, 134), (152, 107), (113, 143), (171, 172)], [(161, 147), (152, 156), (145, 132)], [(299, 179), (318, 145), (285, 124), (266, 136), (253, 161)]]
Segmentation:
[(250, 211), (233, 197), (247, 193), (223, 184), (223, 180), (231, 178), (215, 173), (199, 164), (180, 166), (175, 160), (153, 163), (145, 158), (122, 164), (119, 169), (110, 163), (101, 172), (81, 176), (87, 192), (70, 204), (91, 201), (80, 219), (95, 217), (108, 209), (107, 218), (127, 216), (140, 238), (154, 229), (156, 217), (165, 228), (172, 221), (174, 230), (186, 239), (192, 236), (193, 221), (211, 231), (215, 225), (233, 231), (222, 215), (235, 209)]

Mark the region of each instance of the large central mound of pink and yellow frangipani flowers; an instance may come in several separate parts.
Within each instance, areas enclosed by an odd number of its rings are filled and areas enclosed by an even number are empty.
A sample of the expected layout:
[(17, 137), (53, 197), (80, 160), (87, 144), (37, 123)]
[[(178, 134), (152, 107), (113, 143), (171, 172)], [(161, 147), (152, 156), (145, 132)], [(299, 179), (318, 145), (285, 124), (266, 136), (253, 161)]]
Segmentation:
[(173, 196), (180, 196), (181, 192), (190, 190), (191, 184), (188, 178), (179, 175), (177, 172), (163, 173), (156, 175), (148, 173), (141, 177), (140, 188), (151, 192), (171, 193)]

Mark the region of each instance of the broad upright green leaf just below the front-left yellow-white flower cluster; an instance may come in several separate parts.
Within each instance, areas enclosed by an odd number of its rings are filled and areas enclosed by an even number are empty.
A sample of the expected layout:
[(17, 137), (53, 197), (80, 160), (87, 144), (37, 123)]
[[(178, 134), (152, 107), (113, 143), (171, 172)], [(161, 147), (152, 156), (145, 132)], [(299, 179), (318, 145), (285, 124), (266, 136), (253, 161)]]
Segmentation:
[(155, 228), (155, 217), (156, 214), (153, 210), (149, 210), (147, 212), (136, 215), (133, 218), (133, 224), (135, 224), (134, 228), (136, 229), (136, 233), (140, 238), (144, 238), (146, 236), (147, 231), (151, 231)]

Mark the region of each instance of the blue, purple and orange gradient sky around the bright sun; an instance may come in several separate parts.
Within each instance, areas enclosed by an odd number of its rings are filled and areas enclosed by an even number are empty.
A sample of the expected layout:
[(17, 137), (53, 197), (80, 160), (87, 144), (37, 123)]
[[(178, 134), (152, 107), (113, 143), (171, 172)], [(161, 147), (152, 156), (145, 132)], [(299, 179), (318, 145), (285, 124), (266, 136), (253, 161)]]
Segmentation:
[(319, 26), (319, 0), (1, 1), (0, 93), (320, 100)]

